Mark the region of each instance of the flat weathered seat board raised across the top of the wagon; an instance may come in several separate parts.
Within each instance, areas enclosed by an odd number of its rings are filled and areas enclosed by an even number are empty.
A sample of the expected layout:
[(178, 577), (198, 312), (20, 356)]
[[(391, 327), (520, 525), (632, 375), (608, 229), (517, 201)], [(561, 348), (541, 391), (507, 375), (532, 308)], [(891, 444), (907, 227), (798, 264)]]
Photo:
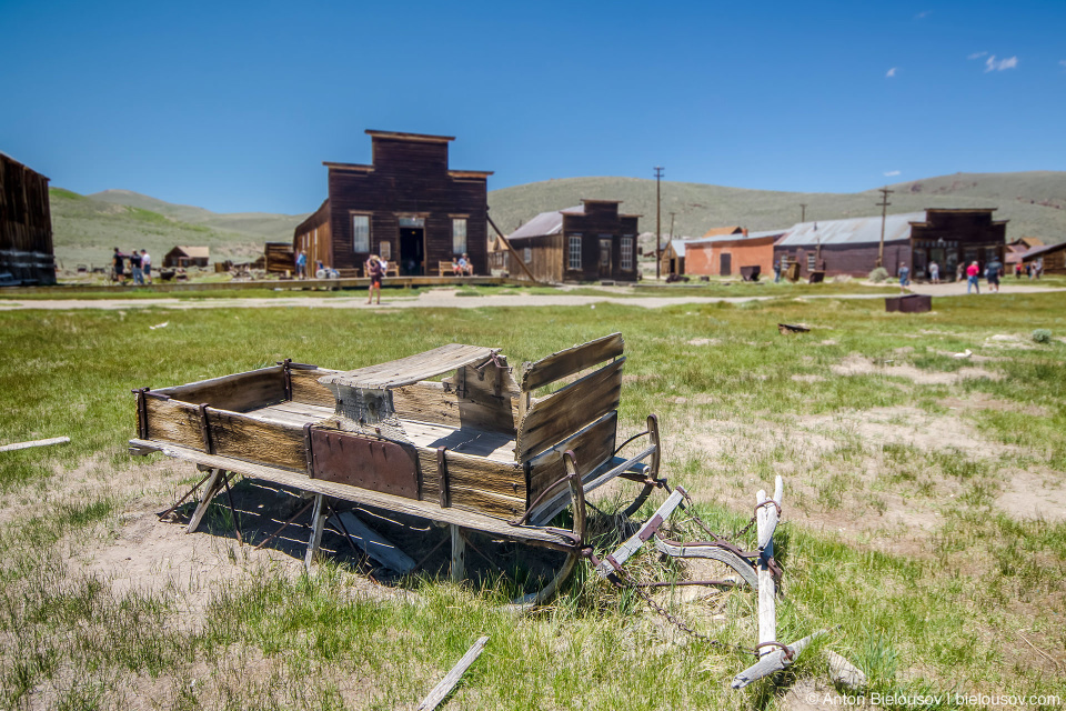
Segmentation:
[(499, 352), (499, 349), (449, 343), (386, 363), (330, 373), (320, 378), (319, 382), (325, 385), (338, 384), (368, 390), (389, 390), (401, 385), (410, 385), (471, 363), (483, 363), (495, 352)]

